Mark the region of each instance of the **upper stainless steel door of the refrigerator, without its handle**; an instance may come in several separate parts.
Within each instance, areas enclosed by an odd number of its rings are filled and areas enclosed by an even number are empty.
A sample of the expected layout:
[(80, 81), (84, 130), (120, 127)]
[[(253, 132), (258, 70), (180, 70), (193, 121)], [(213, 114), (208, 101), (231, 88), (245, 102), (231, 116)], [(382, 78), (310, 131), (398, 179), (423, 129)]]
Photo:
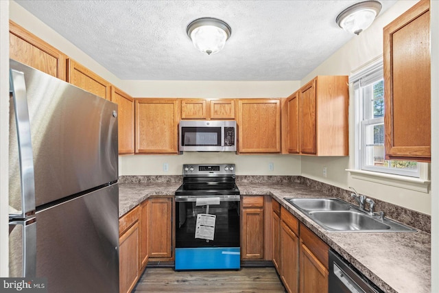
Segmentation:
[[(36, 207), (117, 180), (117, 105), (14, 60), (10, 68), (25, 77)], [(21, 210), (10, 105), (10, 205)]]

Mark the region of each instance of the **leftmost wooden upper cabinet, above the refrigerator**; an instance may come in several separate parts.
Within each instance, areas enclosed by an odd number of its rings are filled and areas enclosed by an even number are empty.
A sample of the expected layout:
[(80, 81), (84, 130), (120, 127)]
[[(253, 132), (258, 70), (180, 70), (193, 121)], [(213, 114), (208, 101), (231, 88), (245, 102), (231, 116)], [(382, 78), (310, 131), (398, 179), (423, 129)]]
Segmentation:
[(9, 21), (10, 58), (66, 80), (66, 56), (23, 27)]

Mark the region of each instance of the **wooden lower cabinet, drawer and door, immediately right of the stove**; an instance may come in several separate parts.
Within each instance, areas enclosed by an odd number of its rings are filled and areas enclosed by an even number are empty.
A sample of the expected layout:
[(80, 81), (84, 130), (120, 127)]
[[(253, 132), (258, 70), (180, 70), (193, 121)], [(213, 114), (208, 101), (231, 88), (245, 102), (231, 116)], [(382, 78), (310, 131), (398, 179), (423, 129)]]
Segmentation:
[(264, 258), (263, 196), (241, 198), (241, 259)]

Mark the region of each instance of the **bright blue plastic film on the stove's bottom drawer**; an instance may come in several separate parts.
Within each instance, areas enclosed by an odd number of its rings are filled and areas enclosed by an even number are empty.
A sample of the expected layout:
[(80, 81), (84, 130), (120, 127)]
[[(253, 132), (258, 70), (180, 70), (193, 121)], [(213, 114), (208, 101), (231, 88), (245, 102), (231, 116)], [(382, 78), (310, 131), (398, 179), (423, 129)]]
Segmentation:
[(176, 248), (176, 270), (230, 270), (241, 268), (239, 247)]

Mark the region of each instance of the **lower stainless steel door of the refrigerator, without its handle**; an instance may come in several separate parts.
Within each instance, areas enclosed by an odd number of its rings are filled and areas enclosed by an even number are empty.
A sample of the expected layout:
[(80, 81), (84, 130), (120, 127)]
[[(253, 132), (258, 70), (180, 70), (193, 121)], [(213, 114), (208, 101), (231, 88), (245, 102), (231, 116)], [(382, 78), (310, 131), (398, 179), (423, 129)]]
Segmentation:
[(118, 185), (36, 213), (36, 277), (49, 292), (119, 292)]

